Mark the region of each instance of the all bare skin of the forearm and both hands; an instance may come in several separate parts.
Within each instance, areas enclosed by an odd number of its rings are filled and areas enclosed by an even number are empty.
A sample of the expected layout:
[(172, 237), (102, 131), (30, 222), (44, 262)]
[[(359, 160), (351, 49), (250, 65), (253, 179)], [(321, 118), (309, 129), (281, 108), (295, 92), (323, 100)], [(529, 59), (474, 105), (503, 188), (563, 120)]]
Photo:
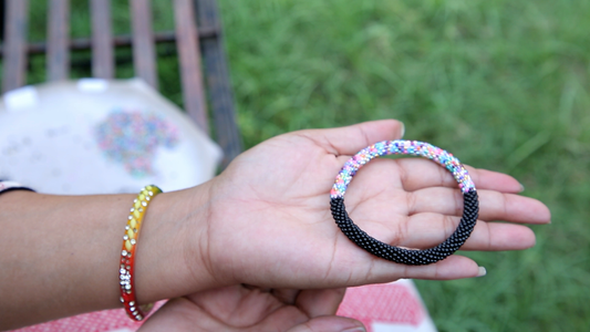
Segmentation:
[[(135, 289), (139, 303), (174, 300), (142, 329), (362, 331), (360, 322), (334, 315), (346, 287), (478, 276), (478, 264), (459, 255), (422, 267), (375, 258), (335, 227), (329, 191), (342, 165), (402, 132), (396, 121), (379, 121), (281, 135), (204, 185), (154, 198), (141, 231)], [(508, 175), (468, 170), (480, 212), (462, 250), (532, 247), (535, 235), (522, 224), (549, 222), (548, 208), (518, 196), (521, 185)], [(0, 196), (0, 266), (8, 267), (0, 271), (0, 328), (121, 307), (113, 284), (132, 200), (133, 195)], [(361, 228), (407, 248), (444, 241), (463, 206), (451, 174), (406, 158), (368, 164), (345, 200)]]

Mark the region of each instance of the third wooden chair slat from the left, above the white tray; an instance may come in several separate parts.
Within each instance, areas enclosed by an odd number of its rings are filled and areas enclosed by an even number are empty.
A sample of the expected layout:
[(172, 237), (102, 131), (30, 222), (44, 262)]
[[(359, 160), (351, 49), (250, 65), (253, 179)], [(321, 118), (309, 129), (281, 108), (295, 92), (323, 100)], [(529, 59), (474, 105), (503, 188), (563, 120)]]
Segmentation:
[(90, 0), (92, 13), (92, 75), (114, 76), (113, 37), (111, 33), (111, 1)]

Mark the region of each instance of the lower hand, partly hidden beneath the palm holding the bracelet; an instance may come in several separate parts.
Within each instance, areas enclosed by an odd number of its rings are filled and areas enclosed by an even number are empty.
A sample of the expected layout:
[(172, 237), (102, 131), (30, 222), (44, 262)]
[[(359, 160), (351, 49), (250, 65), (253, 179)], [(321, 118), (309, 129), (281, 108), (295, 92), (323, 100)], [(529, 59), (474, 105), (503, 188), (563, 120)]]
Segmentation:
[(139, 331), (365, 331), (359, 321), (333, 315), (343, 295), (344, 289), (230, 286), (170, 300)]

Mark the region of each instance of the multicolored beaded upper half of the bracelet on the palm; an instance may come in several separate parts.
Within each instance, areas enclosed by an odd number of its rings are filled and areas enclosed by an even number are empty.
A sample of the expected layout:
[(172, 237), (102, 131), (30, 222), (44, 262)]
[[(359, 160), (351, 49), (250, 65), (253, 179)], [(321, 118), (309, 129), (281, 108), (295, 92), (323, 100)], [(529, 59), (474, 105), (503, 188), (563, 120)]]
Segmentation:
[(356, 172), (371, 159), (384, 155), (414, 155), (432, 159), (453, 174), (463, 194), (475, 190), (475, 185), (465, 166), (448, 152), (424, 142), (397, 139), (379, 142), (361, 149), (350, 158), (338, 174), (330, 197), (344, 197)]

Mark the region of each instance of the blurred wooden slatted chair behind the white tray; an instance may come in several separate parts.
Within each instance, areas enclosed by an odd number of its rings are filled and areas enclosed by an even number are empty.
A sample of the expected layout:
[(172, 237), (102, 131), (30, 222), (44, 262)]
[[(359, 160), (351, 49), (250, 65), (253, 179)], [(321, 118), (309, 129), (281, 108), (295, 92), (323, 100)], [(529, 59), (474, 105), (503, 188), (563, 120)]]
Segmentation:
[(89, 0), (92, 35), (82, 39), (70, 39), (70, 1), (48, 1), (46, 41), (35, 43), (27, 40), (29, 1), (0, 1), (3, 4), (1, 19), (4, 30), (0, 45), (2, 93), (27, 84), (29, 54), (44, 53), (46, 80), (60, 81), (70, 77), (70, 53), (91, 50), (92, 75), (113, 79), (115, 48), (130, 46), (133, 49), (135, 76), (157, 90), (155, 44), (175, 42), (185, 111), (200, 128), (210, 133), (207, 112), (209, 104), (215, 138), (224, 151), (221, 167), (227, 166), (241, 152), (215, 0), (170, 0), (170, 6), (174, 6), (175, 31), (158, 32), (152, 30), (151, 1), (130, 0), (131, 35), (112, 34), (110, 0)]

